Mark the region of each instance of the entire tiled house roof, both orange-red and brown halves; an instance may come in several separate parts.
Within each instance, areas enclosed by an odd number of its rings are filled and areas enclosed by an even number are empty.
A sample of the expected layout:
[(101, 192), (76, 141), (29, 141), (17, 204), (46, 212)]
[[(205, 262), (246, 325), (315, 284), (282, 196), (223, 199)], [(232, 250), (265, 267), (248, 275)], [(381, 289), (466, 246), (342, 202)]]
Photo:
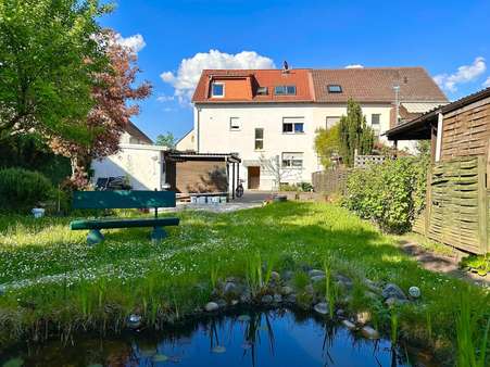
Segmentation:
[[(243, 98), (210, 98), (212, 80), (247, 80)], [(296, 85), (296, 96), (275, 96), (274, 87)], [(341, 93), (329, 93), (328, 85), (340, 85)], [(366, 67), (339, 69), (205, 69), (196, 88), (194, 103), (230, 102), (357, 102), (392, 103), (393, 86), (400, 86), (400, 101), (447, 102), (448, 99), (423, 67)], [(257, 87), (267, 87), (267, 96), (257, 96)], [(247, 90), (247, 92), (246, 92)]]

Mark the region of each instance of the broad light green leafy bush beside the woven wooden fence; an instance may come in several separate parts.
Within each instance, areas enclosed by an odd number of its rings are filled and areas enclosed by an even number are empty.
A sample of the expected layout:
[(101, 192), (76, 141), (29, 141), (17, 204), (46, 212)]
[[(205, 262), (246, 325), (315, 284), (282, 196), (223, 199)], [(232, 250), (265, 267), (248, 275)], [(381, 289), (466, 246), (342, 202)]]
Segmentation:
[(387, 232), (411, 229), (424, 207), (427, 161), (402, 157), (355, 169), (347, 181), (343, 204)]

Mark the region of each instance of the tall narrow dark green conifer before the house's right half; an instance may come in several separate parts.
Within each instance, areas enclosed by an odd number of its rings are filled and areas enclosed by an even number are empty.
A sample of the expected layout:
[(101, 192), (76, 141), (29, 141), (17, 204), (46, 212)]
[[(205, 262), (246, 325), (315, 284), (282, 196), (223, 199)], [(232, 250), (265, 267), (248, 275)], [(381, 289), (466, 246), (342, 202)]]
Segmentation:
[(359, 154), (369, 154), (374, 145), (374, 130), (367, 126), (361, 105), (349, 99), (347, 116), (339, 123), (340, 155), (348, 166), (354, 163), (355, 150)]

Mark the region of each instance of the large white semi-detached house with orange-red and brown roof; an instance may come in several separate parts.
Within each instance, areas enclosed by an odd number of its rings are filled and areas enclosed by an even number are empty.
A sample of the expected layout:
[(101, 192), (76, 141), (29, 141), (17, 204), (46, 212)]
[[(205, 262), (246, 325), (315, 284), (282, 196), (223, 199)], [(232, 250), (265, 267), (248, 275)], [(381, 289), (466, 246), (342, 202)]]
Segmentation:
[(246, 189), (311, 182), (322, 169), (315, 131), (337, 124), (349, 98), (386, 143), (390, 127), (448, 103), (422, 67), (205, 69), (192, 98), (193, 150), (237, 153)]

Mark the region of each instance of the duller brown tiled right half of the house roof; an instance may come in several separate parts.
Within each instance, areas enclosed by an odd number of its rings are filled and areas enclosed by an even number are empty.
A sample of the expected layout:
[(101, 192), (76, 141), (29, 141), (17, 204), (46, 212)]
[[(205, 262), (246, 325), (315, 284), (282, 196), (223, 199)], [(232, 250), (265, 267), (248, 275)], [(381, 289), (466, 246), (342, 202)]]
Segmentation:
[[(400, 101), (448, 101), (423, 67), (366, 67), (314, 69), (313, 83), (317, 102), (393, 102), (395, 85)], [(340, 85), (341, 93), (329, 93), (328, 85)]]

